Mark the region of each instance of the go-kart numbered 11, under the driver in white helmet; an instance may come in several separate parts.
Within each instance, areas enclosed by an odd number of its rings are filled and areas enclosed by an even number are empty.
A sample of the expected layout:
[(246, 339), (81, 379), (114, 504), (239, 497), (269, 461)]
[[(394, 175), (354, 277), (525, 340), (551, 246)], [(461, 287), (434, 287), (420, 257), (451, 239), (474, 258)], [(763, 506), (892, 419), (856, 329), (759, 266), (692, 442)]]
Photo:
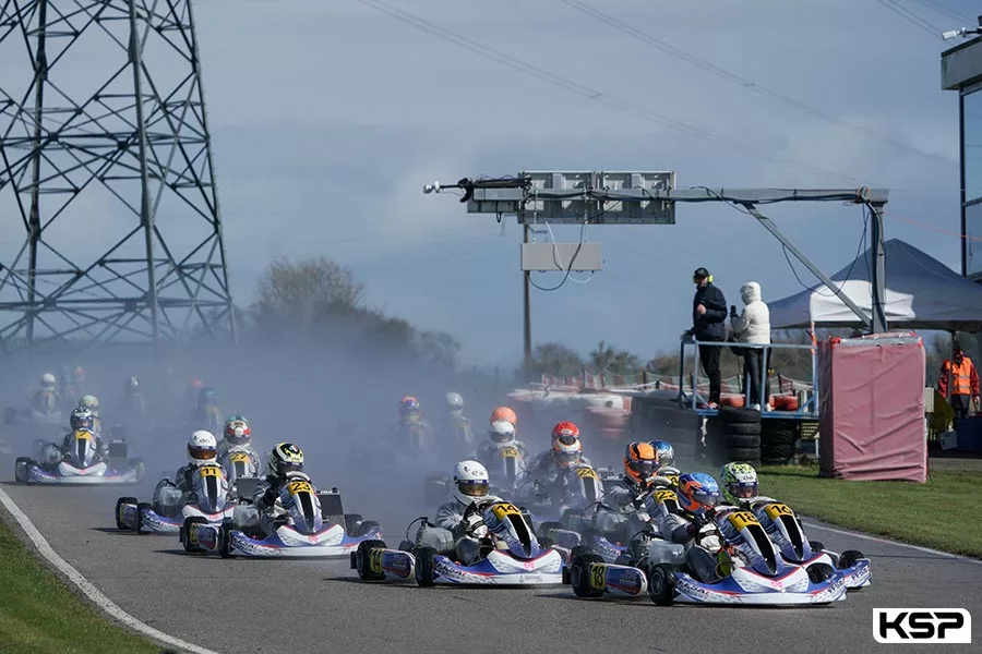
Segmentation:
[[(191, 475), (191, 491), (183, 495), (169, 480), (161, 480), (154, 492), (156, 504), (137, 501), (135, 497), (116, 500), (116, 526), (141, 533), (178, 533), (189, 518), (200, 518), (217, 524), (232, 518), (236, 510), (235, 494), (218, 465), (201, 465)], [(178, 502), (159, 501), (164, 495), (180, 497)]]

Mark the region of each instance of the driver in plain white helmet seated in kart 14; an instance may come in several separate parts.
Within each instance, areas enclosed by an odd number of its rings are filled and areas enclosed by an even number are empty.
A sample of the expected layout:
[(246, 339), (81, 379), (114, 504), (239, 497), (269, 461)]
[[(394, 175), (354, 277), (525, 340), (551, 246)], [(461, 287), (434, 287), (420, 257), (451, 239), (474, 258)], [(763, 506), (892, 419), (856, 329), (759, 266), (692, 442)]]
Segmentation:
[(478, 461), (460, 461), (454, 467), (452, 500), (436, 509), (436, 526), (448, 530), (454, 536), (454, 552), (465, 566), (472, 566), (482, 556), (481, 540), (488, 535), (480, 513), (472, 513), (464, 521), (464, 513), (475, 501), (502, 501), (488, 495), (491, 480), (488, 470)]

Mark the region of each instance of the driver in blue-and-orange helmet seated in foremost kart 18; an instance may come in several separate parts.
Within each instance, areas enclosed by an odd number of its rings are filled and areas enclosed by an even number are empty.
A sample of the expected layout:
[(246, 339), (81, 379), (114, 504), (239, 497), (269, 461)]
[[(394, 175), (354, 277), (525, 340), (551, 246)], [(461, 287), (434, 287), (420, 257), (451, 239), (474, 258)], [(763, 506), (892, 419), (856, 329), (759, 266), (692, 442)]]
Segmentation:
[(720, 504), (719, 484), (705, 472), (687, 472), (679, 477), (674, 493), (648, 496), (648, 514), (661, 537), (685, 546), (685, 560), (697, 580), (712, 583), (717, 574), (717, 554), (696, 544), (699, 531), (712, 522), (708, 513)]

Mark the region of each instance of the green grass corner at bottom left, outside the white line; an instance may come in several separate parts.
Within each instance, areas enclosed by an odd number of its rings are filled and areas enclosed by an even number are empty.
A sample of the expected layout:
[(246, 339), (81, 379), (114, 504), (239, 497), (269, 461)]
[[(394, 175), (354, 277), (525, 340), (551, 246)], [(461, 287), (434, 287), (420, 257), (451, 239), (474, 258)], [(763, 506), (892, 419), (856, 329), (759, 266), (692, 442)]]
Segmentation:
[(104, 619), (45, 568), (0, 520), (0, 653), (158, 654)]

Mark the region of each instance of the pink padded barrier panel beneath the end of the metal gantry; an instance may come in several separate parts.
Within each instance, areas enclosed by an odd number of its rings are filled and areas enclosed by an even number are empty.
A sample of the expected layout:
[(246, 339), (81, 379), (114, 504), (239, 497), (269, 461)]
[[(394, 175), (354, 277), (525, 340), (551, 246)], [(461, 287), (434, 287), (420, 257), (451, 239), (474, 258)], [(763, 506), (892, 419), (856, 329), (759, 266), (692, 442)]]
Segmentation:
[(924, 344), (913, 332), (819, 343), (824, 476), (927, 481), (924, 365)]

